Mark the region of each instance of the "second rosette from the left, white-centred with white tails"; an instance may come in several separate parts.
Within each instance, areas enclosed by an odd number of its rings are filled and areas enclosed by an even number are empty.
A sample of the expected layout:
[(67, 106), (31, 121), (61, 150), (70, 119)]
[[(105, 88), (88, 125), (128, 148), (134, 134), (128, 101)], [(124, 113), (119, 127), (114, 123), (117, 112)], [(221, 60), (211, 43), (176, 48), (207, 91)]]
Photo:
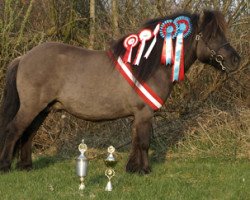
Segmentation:
[(140, 60), (142, 57), (142, 53), (144, 51), (145, 45), (146, 45), (146, 41), (150, 40), (153, 37), (153, 33), (150, 29), (143, 29), (140, 33), (139, 33), (139, 39), (140, 39), (140, 46), (138, 48), (137, 51), (137, 55), (136, 58), (134, 60), (134, 65), (139, 65), (140, 64)]

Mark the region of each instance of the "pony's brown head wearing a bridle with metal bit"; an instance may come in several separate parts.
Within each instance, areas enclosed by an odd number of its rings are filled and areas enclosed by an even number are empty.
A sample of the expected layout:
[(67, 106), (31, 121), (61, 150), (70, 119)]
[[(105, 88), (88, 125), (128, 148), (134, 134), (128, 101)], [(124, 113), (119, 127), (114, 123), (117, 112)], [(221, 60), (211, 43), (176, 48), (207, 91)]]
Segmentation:
[(219, 11), (203, 11), (198, 19), (196, 56), (203, 63), (232, 72), (240, 65), (240, 56), (228, 42), (226, 21)]

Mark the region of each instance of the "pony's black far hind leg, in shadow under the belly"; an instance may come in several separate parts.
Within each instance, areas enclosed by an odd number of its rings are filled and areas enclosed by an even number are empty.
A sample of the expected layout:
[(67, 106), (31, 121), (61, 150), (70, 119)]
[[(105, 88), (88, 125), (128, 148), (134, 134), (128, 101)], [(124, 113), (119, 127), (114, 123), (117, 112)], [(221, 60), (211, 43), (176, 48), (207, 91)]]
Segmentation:
[(17, 163), (16, 168), (20, 170), (32, 169), (32, 139), (35, 133), (42, 125), (46, 117), (48, 116), (48, 108), (44, 109), (39, 115), (32, 121), (31, 125), (25, 130), (20, 138), (20, 161)]

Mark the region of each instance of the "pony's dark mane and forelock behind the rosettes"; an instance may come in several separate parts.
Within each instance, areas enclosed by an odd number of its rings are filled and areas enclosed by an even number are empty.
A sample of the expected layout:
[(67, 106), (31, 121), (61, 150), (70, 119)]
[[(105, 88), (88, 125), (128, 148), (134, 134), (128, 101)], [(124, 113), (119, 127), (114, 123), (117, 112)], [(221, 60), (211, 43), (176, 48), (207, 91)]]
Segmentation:
[[(188, 46), (191, 44), (190, 43), (191, 40), (194, 38), (195, 34), (197, 34), (199, 31), (206, 30), (203, 32), (204, 37), (210, 39), (212, 36), (216, 35), (218, 32), (224, 33), (226, 30), (226, 22), (225, 22), (225, 18), (223, 14), (219, 11), (208, 11), (208, 10), (204, 11), (204, 19), (203, 19), (202, 24), (200, 25), (199, 25), (198, 14), (191, 14), (189, 12), (178, 12), (178, 13), (175, 13), (173, 15), (169, 15), (163, 18), (156, 18), (156, 19), (149, 20), (141, 27), (141, 29), (147, 28), (153, 31), (159, 22), (163, 22), (167, 19), (173, 20), (180, 15), (189, 17), (191, 19), (191, 24), (192, 24), (192, 33), (188, 38), (185, 39), (185, 46)], [(200, 30), (198, 30), (198, 26), (200, 26)], [(118, 41), (114, 42), (111, 45), (111, 50), (116, 58), (119, 56), (122, 57), (125, 54), (126, 49), (123, 46), (123, 42), (128, 35), (122, 37), (121, 39), (119, 39)], [(144, 53), (145, 53), (145, 50), (148, 49), (151, 41), (152, 39), (146, 43)], [(138, 46), (139, 44), (133, 48), (132, 60), (134, 60), (134, 58), (136, 57)], [(149, 58), (145, 59), (142, 57), (140, 64), (138, 66), (133, 65), (132, 67), (133, 74), (139, 81), (146, 81), (148, 78), (151, 77), (151, 75), (154, 74), (154, 72), (158, 69), (158, 67), (160, 67), (162, 47), (163, 47), (163, 38), (160, 36), (160, 34), (158, 34), (157, 43), (153, 51), (151, 52)]]

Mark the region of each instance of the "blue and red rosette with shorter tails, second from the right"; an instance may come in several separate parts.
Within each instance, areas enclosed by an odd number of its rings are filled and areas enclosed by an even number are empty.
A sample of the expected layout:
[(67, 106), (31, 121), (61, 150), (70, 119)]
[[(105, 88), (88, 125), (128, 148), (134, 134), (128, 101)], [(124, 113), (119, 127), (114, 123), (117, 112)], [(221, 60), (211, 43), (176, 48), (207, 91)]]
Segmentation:
[(176, 37), (178, 26), (173, 20), (166, 20), (161, 24), (160, 35), (164, 39), (161, 63), (168, 65), (173, 63), (173, 44), (172, 39)]

